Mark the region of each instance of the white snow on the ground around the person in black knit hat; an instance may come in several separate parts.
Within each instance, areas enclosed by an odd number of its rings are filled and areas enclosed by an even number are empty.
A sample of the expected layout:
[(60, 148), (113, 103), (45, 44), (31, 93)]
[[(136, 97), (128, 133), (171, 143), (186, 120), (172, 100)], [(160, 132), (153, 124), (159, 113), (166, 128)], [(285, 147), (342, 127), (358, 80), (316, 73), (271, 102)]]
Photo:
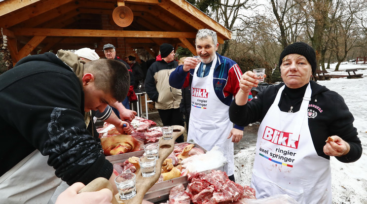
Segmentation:
[[(347, 75), (345, 69), (358, 68), (363, 78), (331, 78), (318, 81), (340, 94), (354, 116), (354, 126), (362, 141), (362, 157), (354, 163), (341, 163), (331, 158), (332, 204), (367, 204), (367, 64), (342, 63), (339, 71), (333, 71), (336, 64), (327, 69), (330, 74)], [(235, 158), (236, 183), (250, 186), (252, 166), (255, 158), (255, 144), (242, 149)]]

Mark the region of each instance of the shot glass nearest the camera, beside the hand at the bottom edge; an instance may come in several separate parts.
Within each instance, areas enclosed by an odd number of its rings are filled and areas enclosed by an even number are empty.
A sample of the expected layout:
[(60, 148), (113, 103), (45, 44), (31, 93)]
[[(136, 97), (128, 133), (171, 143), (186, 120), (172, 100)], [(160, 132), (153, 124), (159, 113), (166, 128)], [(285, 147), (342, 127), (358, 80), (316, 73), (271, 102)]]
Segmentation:
[(136, 176), (132, 172), (124, 172), (115, 178), (115, 184), (121, 200), (128, 200), (136, 195)]

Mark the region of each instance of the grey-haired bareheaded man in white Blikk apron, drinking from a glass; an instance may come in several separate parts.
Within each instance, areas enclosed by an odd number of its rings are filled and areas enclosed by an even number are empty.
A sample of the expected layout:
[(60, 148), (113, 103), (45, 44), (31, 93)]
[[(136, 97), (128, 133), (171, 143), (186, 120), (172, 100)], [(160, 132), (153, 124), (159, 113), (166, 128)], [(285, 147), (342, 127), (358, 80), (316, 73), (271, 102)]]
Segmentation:
[(233, 127), (228, 108), (239, 90), (242, 72), (234, 61), (216, 53), (219, 43), (214, 31), (199, 30), (195, 43), (200, 60), (186, 58), (184, 65), (171, 73), (170, 85), (182, 88), (190, 84), (191, 112), (187, 140), (194, 140), (208, 151), (219, 146), (227, 159), (226, 173), (234, 181), (233, 142), (241, 140), (243, 127)]

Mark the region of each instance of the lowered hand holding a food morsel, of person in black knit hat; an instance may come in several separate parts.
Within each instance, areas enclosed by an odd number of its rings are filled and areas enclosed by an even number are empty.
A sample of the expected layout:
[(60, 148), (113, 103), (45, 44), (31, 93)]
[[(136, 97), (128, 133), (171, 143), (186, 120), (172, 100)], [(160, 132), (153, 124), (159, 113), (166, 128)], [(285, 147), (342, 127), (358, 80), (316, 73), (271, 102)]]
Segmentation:
[(348, 142), (344, 141), (339, 136), (330, 136), (324, 146), (324, 153), (329, 156), (343, 156), (348, 154), (350, 146)]

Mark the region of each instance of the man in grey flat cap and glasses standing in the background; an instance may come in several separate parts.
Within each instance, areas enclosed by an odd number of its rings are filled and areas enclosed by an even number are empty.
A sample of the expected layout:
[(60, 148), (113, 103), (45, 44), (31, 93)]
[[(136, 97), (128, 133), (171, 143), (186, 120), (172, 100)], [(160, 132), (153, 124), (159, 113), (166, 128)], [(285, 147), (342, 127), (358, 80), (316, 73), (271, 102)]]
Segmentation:
[[(127, 93), (126, 99), (122, 102), (122, 104), (125, 106), (126, 109), (130, 109), (129, 99), (132, 99), (132, 100), (137, 99), (137, 97), (135, 95), (135, 92), (134, 92), (135, 78), (134, 78), (133, 71), (131, 70), (130, 66), (125, 61), (121, 60), (119, 57), (116, 56), (116, 48), (112, 44), (110, 44), (110, 43), (105, 44), (103, 46), (103, 52), (105, 53), (106, 59), (118, 60), (118, 61), (122, 62), (126, 66), (126, 68), (129, 70), (130, 89), (129, 89), (129, 92)], [(131, 101), (131, 102), (134, 102), (134, 101)], [(116, 113), (117, 116), (120, 115), (119, 111), (116, 108), (112, 107), (112, 110), (113, 110), (113, 112)]]

